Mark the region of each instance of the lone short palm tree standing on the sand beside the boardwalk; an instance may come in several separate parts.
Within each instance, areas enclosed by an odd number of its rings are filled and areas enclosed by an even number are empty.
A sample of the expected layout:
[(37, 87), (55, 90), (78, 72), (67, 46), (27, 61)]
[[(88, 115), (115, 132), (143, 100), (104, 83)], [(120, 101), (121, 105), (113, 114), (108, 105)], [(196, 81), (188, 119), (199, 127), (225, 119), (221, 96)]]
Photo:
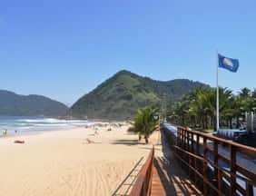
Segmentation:
[(133, 132), (138, 133), (139, 140), (144, 137), (145, 142), (148, 143), (150, 135), (157, 129), (157, 122), (159, 119), (158, 110), (151, 107), (144, 107), (137, 111), (134, 117)]

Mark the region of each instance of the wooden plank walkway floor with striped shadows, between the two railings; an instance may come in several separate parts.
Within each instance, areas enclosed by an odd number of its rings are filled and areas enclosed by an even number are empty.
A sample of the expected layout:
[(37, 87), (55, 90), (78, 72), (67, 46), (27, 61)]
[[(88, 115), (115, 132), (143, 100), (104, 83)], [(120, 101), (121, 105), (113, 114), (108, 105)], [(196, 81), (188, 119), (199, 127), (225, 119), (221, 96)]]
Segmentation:
[(155, 145), (152, 195), (203, 195), (175, 161), (164, 138)]

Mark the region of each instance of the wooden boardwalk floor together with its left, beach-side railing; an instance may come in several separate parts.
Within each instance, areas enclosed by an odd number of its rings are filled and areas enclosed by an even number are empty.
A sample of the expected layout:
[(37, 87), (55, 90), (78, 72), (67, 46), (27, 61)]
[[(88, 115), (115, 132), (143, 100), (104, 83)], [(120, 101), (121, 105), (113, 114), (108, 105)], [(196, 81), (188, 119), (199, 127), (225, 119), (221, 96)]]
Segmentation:
[[(190, 181), (188, 175), (182, 171), (181, 166), (174, 157), (174, 152), (165, 142), (165, 139), (160, 136), (158, 138), (159, 140), (155, 143), (153, 152), (149, 155), (148, 161), (144, 164), (129, 195), (203, 195)], [(150, 175), (146, 176), (146, 171)]]

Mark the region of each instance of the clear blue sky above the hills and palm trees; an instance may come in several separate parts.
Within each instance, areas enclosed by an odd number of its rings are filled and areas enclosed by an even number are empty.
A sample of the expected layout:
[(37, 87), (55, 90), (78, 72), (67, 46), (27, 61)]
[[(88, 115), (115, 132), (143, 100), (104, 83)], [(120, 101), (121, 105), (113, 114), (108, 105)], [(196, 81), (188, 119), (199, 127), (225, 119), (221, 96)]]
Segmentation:
[(241, 62), (220, 84), (253, 88), (255, 48), (255, 0), (0, 3), (0, 89), (64, 103), (122, 69), (214, 86), (216, 49)]

